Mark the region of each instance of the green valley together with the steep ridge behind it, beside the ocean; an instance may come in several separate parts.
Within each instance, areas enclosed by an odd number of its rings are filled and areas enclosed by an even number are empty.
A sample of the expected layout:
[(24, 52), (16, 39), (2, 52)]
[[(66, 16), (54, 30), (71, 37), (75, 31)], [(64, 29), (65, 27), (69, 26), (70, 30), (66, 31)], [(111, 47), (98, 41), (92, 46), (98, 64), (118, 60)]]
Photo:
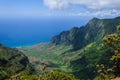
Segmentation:
[(72, 73), (80, 79), (93, 80), (98, 75), (96, 65), (113, 65), (109, 59), (114, 53), (101, 45), (104, 36), (117, 33), (116, 26), (119, 23), (120, 17), (93, 18), (85, 26), (74, 27), (54, 36), (49, 43), (19, 50), (30, 58), (38, 59), (30, 59), (35, 66), (44, 63), (50, 69)]

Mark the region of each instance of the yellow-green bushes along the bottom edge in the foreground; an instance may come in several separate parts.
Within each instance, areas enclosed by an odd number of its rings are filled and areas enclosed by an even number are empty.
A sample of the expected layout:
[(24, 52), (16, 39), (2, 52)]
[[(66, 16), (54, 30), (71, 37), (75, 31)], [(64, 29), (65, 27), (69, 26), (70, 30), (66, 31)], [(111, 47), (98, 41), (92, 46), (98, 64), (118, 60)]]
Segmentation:
[(18, 74), (10, 77), (10, 79), (7, 79), (7, 80), (77, 80), (77, 79), (71, 74), (50, 71), (50, 72), (44, 73), (43, 76)]

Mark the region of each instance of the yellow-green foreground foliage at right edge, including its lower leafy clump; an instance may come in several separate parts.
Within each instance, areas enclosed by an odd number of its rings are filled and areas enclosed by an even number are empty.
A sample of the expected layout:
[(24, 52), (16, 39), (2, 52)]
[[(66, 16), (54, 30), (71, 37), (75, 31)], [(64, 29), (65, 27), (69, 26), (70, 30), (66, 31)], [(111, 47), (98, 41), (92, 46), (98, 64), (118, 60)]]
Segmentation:
[[(117, 26), (117, 29), (120, 30), (120, 25)], [(97, 65), (97, 68), (101, 79), (110, 80), (111, 74), (114, 75), (114, 77), (120, 76), (120, 34), (114, 33), (107, 35), (103, 38), (103, 41), (104, 46), (110, 48), (114, 53), (110, 58), (113, 65), (105, 68), (105, 66), (101, 64)]]

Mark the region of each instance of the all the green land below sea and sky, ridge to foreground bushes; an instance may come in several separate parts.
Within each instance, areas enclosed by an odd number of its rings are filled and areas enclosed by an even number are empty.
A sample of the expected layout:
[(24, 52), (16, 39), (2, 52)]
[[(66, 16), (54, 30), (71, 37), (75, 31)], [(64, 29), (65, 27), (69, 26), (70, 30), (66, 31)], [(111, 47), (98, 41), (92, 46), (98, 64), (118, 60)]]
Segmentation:
[(49, 43), (19, 48), (21, 52), (0, 45), (0, 80), (109, 80), (120, 76), (119, 23), (120, 17), (93, 18), (85, 26), (54, 36)]

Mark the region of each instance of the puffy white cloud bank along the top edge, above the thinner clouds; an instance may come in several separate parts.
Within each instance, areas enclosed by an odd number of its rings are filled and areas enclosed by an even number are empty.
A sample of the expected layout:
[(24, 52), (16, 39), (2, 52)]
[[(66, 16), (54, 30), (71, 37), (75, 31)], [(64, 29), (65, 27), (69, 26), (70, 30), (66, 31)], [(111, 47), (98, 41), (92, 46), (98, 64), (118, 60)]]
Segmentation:
[(64, 9), (70, 4), (78, 4), (90, 9), (120, 8), (120, 0), (44, 0), (44, 4), (50, 9)]

